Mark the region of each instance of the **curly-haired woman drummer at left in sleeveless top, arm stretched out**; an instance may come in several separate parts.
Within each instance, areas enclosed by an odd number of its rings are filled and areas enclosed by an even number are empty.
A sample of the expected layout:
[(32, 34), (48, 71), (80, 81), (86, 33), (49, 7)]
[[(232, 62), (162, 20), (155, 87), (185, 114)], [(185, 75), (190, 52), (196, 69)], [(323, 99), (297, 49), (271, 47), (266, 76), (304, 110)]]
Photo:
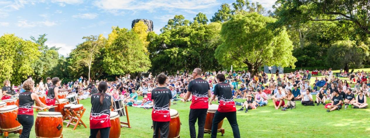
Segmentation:
[[(50, 108), (50, 106), (44, 105), (38, 99), (38, 96), (36, 93), (32, 92), (34, 89), (35, 82), (32, 80), (27, 80), (23, 82), (23, 89), (25, 92), (19, 94), (19, 108), (18, 108), (18, 115), (17, 119), (18, 122), (22, 125), (23, 130), (22, 134), (19, 136), (20, 138), (28, 138), (30, 137), (30, 132), (33, 126), (33, 109), (40, 109), (43, 110), (44, 108), (41, 107), (47, 107)], [(41, 107), (33, 106), (34, 102), (41, 105)]]

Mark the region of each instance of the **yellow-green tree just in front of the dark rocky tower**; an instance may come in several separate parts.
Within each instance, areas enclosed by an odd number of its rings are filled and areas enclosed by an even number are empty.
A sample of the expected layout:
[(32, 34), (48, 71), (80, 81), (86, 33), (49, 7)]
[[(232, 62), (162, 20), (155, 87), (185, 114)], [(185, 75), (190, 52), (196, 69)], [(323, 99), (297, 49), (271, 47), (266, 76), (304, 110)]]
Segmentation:
[(113, 28), (105, 45), (103, 59), (105, 72), (110, 75), (146, 72), (150, 66), (147, 48), (139, 34), (118, 26)]

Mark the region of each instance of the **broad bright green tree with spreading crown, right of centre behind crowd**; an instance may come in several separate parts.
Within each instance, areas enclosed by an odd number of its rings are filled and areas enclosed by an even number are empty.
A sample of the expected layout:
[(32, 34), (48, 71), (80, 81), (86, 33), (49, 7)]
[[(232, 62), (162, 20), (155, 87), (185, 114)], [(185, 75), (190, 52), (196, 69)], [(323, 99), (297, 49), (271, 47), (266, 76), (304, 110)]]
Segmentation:
[(274, 32), (266, 27), (276, 20), (258, 13), (234, 15), (222, 24), (222, 44), (215, 57), (225, 66), (248, 67), (253, 74), (263, 65), (295, 67), (293, 45), (285, 29)]

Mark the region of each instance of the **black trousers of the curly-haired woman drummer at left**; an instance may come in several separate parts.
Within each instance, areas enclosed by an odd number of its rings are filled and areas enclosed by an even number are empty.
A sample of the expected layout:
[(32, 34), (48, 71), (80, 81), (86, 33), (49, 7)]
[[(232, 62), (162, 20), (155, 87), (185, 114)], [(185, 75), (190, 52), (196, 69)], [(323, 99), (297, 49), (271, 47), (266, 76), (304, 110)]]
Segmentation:
[(22, 125), (22, 134), (20, 138), (29, 138), (30, 132), (33, 127), (33, 116), (27, 114), (19, 114), (17, 116), (18, 122)]

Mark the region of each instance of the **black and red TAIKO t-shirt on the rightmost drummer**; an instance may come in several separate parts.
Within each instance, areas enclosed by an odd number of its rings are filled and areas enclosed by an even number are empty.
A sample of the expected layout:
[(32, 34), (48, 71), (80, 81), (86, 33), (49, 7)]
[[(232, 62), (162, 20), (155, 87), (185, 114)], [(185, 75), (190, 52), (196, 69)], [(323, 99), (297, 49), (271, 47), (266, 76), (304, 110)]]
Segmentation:
[(215, 92), (219, 101), (218, 112), (236, 112), (230, 84), (221, 82), (215, 85)]

